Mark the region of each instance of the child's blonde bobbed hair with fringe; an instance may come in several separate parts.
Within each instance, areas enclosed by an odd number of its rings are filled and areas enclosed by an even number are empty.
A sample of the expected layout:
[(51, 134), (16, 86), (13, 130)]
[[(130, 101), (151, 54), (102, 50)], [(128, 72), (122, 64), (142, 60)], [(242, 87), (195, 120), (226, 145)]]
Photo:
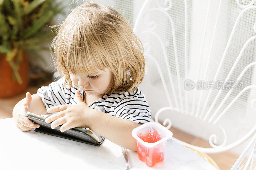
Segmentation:
[[(115, 9), (91, 1), (70, 12), (51, 42), (56, 67), (65, 86), (72, 85), (69, 72), (89, 75), (106, 68), (113, 72), (113, 84), (104, 93), (131, 91), (145, 73), (143, 45), (130, 23)], [(53, 57), (53, 55), (52, 55)], [(53, 59), (54, 60), (54, 59)]]

